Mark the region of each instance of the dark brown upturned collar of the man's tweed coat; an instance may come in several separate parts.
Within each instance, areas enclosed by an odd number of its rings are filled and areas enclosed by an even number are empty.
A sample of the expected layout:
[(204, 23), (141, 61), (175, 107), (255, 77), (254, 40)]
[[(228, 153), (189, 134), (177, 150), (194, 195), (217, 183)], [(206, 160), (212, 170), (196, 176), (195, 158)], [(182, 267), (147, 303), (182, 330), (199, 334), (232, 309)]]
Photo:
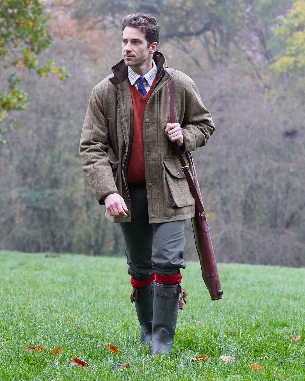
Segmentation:
[[(161, 51), (155, 51), (152, 54), (152, 59), (155, 61), (157, 66), (157, 82), (161, 79), (165, 73), (166, 60), (165, 56)], [(128, 67), (126, 66), (124, 59), (121, 59), (117, 64), (111, 67), (114, 77), (109, 78), (109, 81), (117, 88), (117, 85), (124, 82), (128, 78)]]

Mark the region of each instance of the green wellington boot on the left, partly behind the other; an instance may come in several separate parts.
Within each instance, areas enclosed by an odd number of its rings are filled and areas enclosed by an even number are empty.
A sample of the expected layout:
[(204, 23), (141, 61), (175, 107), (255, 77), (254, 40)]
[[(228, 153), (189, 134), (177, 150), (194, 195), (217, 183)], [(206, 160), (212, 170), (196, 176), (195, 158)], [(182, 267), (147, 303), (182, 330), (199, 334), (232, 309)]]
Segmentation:
[(151, 343), (152, 307), (154, 303), (154, 283), (142, 288), (132, 288), (130, 301), (135, 303), (136, 314), (141, 328), (140, 343)]

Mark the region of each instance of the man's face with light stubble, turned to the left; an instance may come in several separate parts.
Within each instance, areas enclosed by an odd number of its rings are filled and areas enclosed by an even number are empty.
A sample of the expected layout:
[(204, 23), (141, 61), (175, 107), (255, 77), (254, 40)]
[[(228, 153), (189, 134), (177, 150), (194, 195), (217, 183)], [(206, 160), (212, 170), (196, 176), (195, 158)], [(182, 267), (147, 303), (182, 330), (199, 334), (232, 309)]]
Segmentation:
[(122, 35), (122, 54), (126, 66), (140, 66), (148, 59), (145, 32), (141, 28), (125, 27)]

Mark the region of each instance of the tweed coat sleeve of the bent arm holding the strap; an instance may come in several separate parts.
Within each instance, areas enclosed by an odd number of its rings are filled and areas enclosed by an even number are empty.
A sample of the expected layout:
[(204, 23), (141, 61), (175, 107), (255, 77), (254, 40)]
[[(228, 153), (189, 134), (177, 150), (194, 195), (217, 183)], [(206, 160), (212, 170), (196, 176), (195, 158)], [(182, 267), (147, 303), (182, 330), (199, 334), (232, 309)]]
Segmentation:
[[(190, 78), (191, 79), (191, 78)], [(185, 114), (181, 124), (183, 144), (181, 152), (191, 152), (205, 146), (215, 131), (215, 126), (208, 109), (204, 107), (194, 81), (191, 79), (191, 91), (186, 101)]]

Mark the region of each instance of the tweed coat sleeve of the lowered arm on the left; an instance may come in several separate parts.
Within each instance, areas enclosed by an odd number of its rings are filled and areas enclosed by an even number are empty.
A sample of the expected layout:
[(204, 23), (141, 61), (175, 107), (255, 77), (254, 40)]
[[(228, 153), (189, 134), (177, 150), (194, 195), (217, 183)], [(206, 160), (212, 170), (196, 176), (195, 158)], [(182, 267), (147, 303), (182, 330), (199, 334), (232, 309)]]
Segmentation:
[(100, 205), (104, 205), (104, 197), (119, 193), (107, 154), (109, 145), (108, 123), (95, 86), (83, 122), (79, 154), (82, 169), (88, 176), (90, 187)]

